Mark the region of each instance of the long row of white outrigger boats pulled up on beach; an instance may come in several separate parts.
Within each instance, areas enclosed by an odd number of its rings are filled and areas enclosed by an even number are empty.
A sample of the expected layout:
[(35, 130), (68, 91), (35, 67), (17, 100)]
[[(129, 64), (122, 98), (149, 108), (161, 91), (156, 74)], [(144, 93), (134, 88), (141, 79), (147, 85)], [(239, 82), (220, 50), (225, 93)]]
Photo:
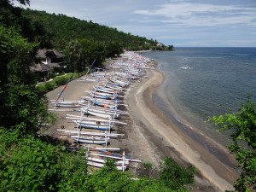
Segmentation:
[(79, 144), (79, 147), (69, 147), (69, 149), (81, 148), (81, 146), (88, 149), (86, 154), (88, 166), (102, 167), (107, 162), (107, 158), (111, 158), (116, 160), (117, 169), (124, 172), (131, 162), (141, 162), (141, 160), (132, 160), (125, 155), (125, 152), (123, 154), (110, 153), (110, 150), (119, 148), (109, 148), (108, 145), (112, 139), (124, 137), (123, 134), (113, 133), (113, 131), (125, 129), (125, 126), (115, 126), (126, 125), (121, 119), (122, 116), (129, 115), (123, 111), (126, 107), (123, 103), (125, 92), (129, 91), (131, 86), (136, 85), (137, 79), (143, 77), (146, 62), (148, 62), (147, 58), (137, 54), (133, 55), (133, 52), (125, 52), (122, 59), (111, 66), (114, 72), (96, 72), (90, 74), (90, 77), (79, 79), (81, 82), (89, 82), (87, 79), (90, 79), (91, 82), (98, 84), (93, 85), (91, 90), (84, 90), (84, 96), (78, 101), (52, 101), (55, 108), (75, 108), (74, 111), (79, 113), (67, 114), (66, 117), (70, 120), (69, 123), (73, 123), (76, 130), (58, 131)]

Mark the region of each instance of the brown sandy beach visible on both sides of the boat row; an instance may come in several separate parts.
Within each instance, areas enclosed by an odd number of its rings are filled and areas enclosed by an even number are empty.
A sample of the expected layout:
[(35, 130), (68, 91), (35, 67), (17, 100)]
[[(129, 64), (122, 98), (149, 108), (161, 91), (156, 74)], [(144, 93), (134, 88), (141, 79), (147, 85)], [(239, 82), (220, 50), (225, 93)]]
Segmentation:
[[(151, 61), (153, 62), (153, 61)], [(172, 157), (183, 166), (193, 165), (197, 169), (195, 186), (191, 191), (224, 191), (233, 189), (232, 183), (237, 173), (230, 166), (224, 165), (215, 156), (210, 154), (206, 148), (196, 143), (178, 125), (166, 117), (165, 113), (156, 108), (153, 95), (165, 77), (156, 69), (144, 69), (146, 74), (125, 93), (123, 107), (129, 115), (121, 117), (121, 121), (127, 125), (117, 125), (114, 132), (125, 134), (125, 137), (111, 140), (109, 147), (122, 148), (125, 154), (133, 158), (152, 163), (157, 168), (164, 157)], [(91, 90), (97, 83), (84, 83), (76, 80), (71, 81), (63, 97), (66, 100), (79, 100), (84, 96), (84, 90)], [(47, 97), (55, 99), (61, 91), (62, 86), (50, 91)], [(49, 104), (49, 108), (52, 105)], [(66, 119), (66, 114), (79, 114), (78, 112), (56, 112), (58, 120), (55, 122), (48, 134), (53, 137), (66, 140), (57, 129), (75, 130), (73, 123)], [(70, 141), (70, 140), (68, 140)], [(213, 143), (214, 144), (214, 143)], [(224, 153), (227, 153), (224, 151)], [(231, 159), (232, 157), (230, 157)], [(154, 169), (150, 173), (154, 175)], [(134, 172), (143, 175), (143, 165), (136, 164)]]

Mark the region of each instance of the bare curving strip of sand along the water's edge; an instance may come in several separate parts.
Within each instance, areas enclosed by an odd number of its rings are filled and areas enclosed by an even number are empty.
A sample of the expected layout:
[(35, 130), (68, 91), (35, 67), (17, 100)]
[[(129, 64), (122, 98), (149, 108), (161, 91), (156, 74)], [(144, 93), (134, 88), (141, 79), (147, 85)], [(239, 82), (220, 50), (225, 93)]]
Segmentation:
[[(138, 86), (138, 90), (135, 90), (132, 95), (135, 97), (135, 101), (140, 103), (138, 109), (144, 118), (143, 120), (140, 119), (140, 121), (147, 125), (148, 131), (153, 132), (158, 137), (156, 140), (159, 141), (154, 141), (155, 145), (160, 146), (160, 143), (163, 143), (166, 148), (172, 148), (172, 151), (161, 148), (160, 154), (162, 156), (163, 154), (167, 156), (171, 154), (172, 158), (180, 163), (194, 165), (199, 172), (195, 177), (197, 184), (202, 186), (212, 185), (214, 186), (213, 191), (233, 189), (232, 183), (235, 180), (234, 176), (236, 176), (235, 170), (224, 165), (205, 148), (202, 148), (188, 134), (181, 131), (177, 124), (166, 117), (166, 114), (161, 112), (155, 104), (152, 104), (154, 103), (154, 91), (164, 81), (164, 76), (159, 71), (155, 71), (151, 75), (149, 75), (151, 80), (148, 79), (141, 87)], [(210, 183), (203, 177), (207, 178)]]

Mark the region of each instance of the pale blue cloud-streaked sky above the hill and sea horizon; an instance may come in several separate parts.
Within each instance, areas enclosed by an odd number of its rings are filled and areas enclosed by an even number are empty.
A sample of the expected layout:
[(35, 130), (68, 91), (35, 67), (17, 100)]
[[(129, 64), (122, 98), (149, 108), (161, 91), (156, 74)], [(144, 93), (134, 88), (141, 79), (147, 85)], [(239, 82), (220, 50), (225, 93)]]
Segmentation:
[(174, 47), (256, 47), (256, 0), (31, 0), (29, 8)]

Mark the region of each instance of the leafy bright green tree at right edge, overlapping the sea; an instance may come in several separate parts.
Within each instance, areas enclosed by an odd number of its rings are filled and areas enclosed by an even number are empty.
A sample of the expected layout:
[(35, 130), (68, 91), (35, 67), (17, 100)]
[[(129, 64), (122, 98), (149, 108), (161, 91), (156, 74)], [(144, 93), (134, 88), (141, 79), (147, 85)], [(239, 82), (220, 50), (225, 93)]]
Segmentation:
[(236, 113), (213, 116), (209, 119), (221, 130), (232, 130), (230, 153), (236, 155), (236, 168), (240, 177), (236, 179), (236, 191), (256, 189), (256, 110), (255, 103), (248, 97)]

